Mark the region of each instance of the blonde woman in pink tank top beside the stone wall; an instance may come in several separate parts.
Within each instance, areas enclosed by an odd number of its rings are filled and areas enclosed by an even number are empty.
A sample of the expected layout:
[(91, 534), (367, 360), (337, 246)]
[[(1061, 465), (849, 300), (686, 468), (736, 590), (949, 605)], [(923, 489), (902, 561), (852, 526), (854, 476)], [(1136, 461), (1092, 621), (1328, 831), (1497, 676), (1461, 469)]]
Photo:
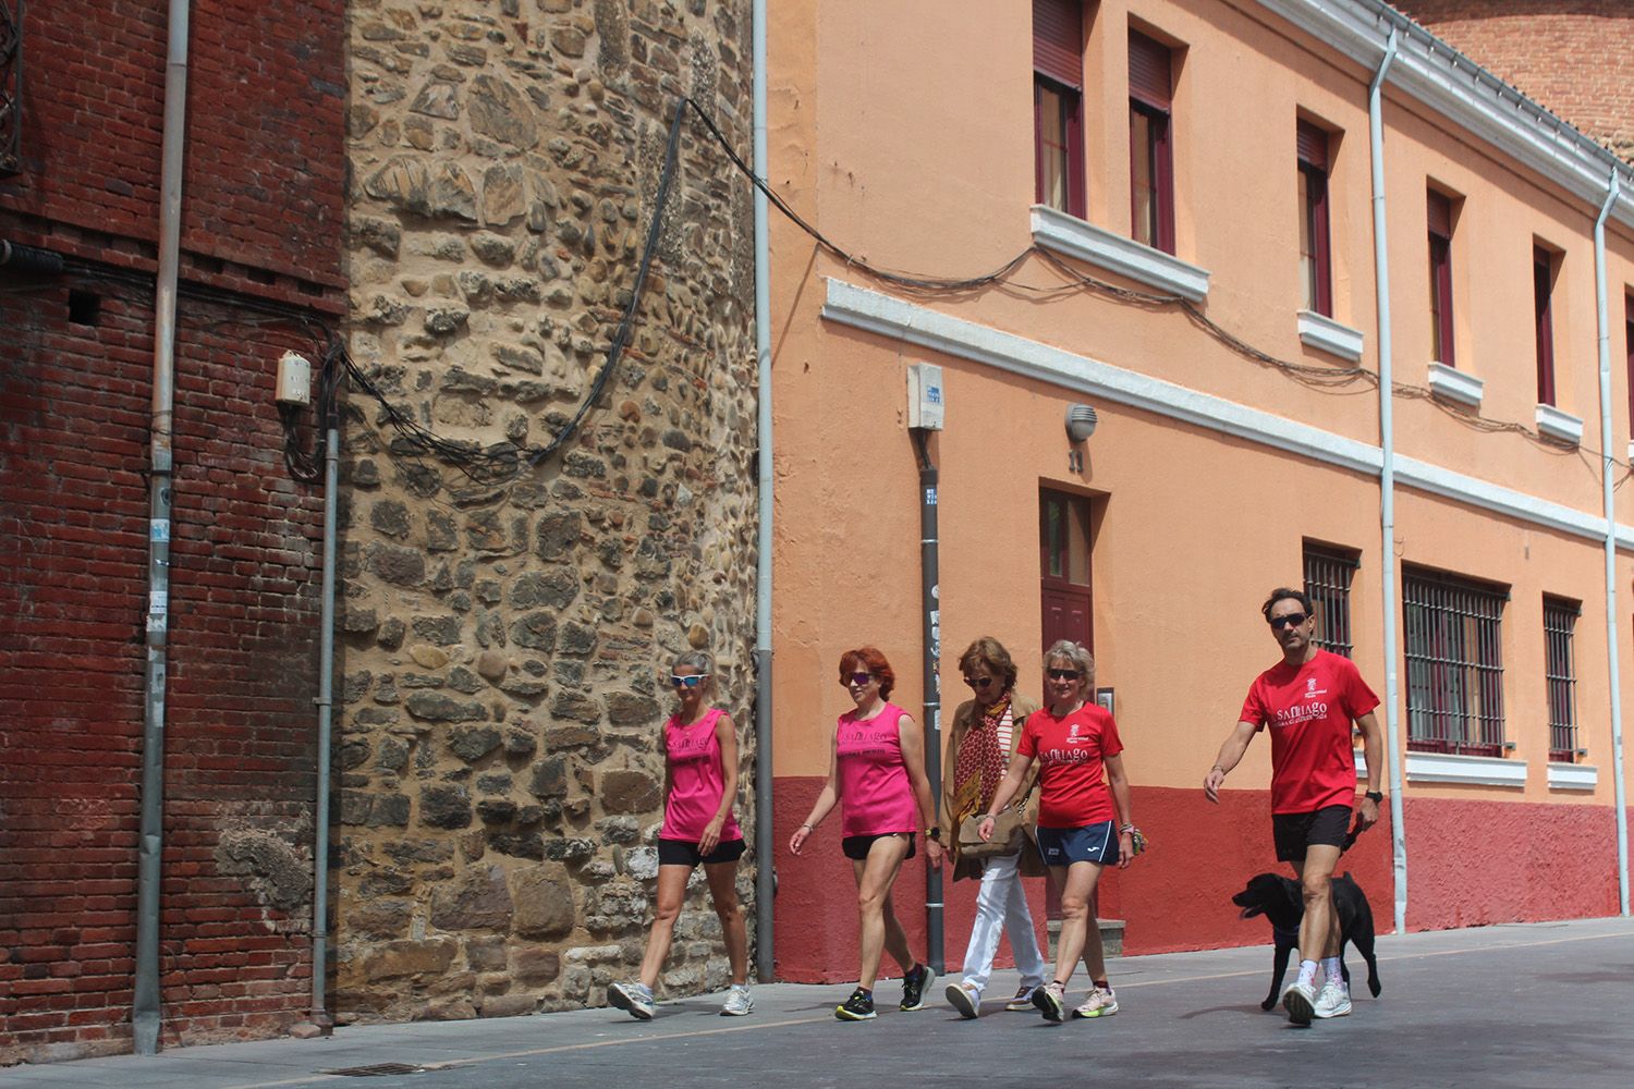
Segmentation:
[(725, 955), (732, 965), (732, 988), (724, 1016), (743, 1016), (755, 1007), (748, 996), (748, 936), (737, 903), (737, 860), (743, 856), (743, 833), (732, 816), (737, 800), (737, 728), (732, 715), (709, 705), (714, 694), (714, 660), (691, 651), (675, 660), (670, 684), (680, 709), (663, 723), (663, 826), (659, 829), (659, 906), (647, 934), (641, 978), (614, 983), (608, 1001), (639, 1020), (654, 1011), (652, 986), (675, 937), (675, 919), (686, 900), (686, 880), (699, 864), (709, 878), (709, 895)]

